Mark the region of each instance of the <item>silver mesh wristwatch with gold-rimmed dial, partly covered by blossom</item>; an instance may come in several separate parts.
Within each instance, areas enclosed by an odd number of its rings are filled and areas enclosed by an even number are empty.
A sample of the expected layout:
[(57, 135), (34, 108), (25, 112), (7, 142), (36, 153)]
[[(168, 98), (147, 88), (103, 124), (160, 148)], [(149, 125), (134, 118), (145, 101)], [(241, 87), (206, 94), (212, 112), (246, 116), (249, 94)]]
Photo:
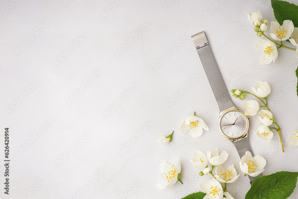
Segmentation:
[[(195, 34), (191, 38), (220, 110), (219, 131), (235, 145), (240, 158), (245, 155), (246, 151), (251, 152), (254, 156), (247, 137), (249, 118), (234, 106), (229, 97), (205, 33)], [(249, 175), (249, 180), (252, 183), (259, 176), (262, 176), (262, 174), (256, 177)]]

